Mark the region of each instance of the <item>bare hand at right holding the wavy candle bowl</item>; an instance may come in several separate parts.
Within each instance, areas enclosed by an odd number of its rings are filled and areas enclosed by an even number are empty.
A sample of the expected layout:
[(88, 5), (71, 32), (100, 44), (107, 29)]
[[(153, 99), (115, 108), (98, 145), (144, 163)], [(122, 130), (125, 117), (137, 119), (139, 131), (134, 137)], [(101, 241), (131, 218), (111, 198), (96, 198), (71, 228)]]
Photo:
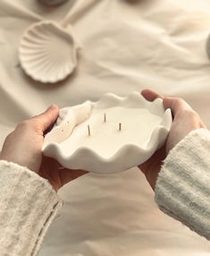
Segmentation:
[(145, 163), (139, 166), (140, 170), (146, 175), (147, 182), (155, 190), (157, 175), (161, 169), (164, 158), (168, 152), (192, 130), (206, 128), (199, 115), (181, 98), (164, 98), (164, 96), (153, 90), (142, 90), (142, 96), (149, 101), (155, 98), (162, 98), (164, 108), (172, 110), (172, 128), (164, 147), (158, 149), (155, 154)]

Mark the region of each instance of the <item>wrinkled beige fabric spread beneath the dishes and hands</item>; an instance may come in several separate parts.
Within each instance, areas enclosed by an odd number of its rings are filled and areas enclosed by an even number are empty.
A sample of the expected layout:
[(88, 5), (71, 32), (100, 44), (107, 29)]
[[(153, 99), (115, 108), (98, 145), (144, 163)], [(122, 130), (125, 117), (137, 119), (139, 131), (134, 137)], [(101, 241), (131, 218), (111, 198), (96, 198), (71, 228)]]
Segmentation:
[[(76, 73), (55, 85), (30, 80), (18, 59), (23, 30), (43, 19), (71, 23), (83, 45)], [(210, 127), (209, 32), (209, 0), (69, 0), (56, 8), (0, 0), (0, 144), (51, 103), (145, 88), (185, 98)], [(156, 208), (137, 168), (83, 176), (60, 194), (65, 205), (40, 256), (210, 255), (206, 239)]]

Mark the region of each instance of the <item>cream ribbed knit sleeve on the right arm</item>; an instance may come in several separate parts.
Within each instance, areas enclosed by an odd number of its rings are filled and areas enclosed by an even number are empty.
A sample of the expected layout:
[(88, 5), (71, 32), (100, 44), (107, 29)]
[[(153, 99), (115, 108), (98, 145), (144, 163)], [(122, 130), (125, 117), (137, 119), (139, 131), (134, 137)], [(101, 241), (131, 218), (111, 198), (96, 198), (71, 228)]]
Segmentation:
[(198, 129), (164, 160), (155, 184), (158, 207), (210, 240), (210, 132)]

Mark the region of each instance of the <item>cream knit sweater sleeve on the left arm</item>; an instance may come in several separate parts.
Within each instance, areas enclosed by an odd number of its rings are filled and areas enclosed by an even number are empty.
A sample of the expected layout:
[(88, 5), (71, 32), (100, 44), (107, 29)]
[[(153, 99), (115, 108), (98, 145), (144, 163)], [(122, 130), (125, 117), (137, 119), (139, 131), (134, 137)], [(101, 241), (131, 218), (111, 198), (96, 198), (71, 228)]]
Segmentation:
[(37, 255), (62, 204), (45, 179), (0, 160), (0, 255)]

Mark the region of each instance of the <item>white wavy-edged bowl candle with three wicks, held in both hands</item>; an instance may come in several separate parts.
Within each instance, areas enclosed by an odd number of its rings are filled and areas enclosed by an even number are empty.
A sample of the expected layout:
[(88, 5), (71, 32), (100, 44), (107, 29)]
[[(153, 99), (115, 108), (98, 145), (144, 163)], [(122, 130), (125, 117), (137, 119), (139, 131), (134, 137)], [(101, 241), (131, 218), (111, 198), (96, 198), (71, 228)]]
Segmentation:
[(69, 169), (118, 173), (150, 158), (171, 125), (171, 109), (164, 110), (161, 98), (149, 102), (139, 92), (125, 98), (105, 94), (97, 102), (63, 108), (43, 152)]

